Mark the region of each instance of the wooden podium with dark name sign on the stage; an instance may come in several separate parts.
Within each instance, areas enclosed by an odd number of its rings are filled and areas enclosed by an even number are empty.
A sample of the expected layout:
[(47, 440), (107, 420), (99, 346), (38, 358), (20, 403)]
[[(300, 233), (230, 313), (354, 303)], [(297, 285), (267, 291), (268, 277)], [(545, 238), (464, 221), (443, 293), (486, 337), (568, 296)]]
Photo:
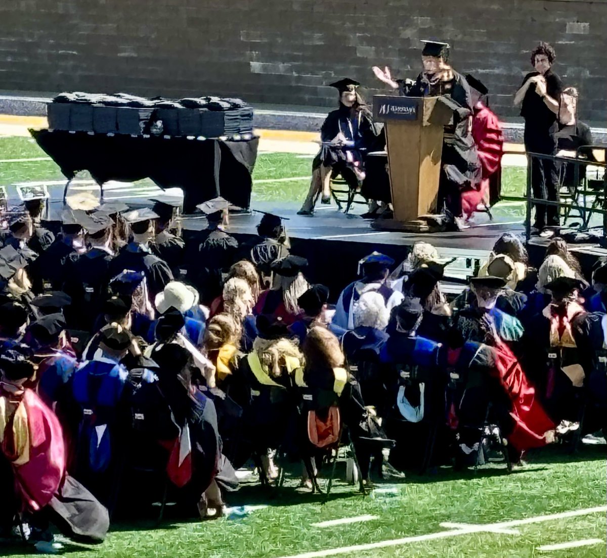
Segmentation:
[(396, 221), (433, 213), (443, 153), (443, 127), (453, 111), (441, 97), (373, 96), (373, 118), (385, 123)]

